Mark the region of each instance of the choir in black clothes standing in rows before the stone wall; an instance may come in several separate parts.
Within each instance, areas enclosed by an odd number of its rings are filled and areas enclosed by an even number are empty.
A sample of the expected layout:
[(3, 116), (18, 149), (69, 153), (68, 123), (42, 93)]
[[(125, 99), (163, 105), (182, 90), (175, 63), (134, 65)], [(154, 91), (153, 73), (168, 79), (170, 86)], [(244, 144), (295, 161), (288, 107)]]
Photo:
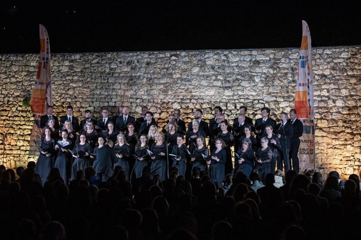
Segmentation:
[(159, 176), (162, 180), (169, 177), (172, 168), (186, 179), (200, 169), (208, 171), (218, 188), (227, 174), (239, 171), (249, 178), (257, 169), (261, 181), (276, 166), (282, 171), (284, 167), (284, 172), (293, 168), (298, 173), (303, 124), (297, 119), (296, 110), (282, 112), (278, 124), (271, 119), (267, 107), (261, 109), (262, 117), (255, 121), (245, 115), (246, 111), (247, 107), (241, 106), (231, 126), (219, 106), (209, 123), (202, 119), (202, 110), (196, 109), (194, 120), (186, 128), (180, 119), (181, 111), (175, 109), (160, 129), (145, 106), (137, 119), (129, 115), (127, 106), (118, 107), (118, 114), (113, 117), (104, 107), (99, 120), (86, 110), (80, 123), (73, 116), (73, 107), (67, 106), (60, 124), (53, 107), (47, 106), (47, 114), (40, 118), (43, 131), (35, 173), (44, 184), (55, 167), (64, 183), (69, 183), (79, 170), (93, 166), (99, 181), (107, 181), (114, 170), (121, 169), (132, 182), (142, 175), (145, 166), (151, 167), (151, 178)]

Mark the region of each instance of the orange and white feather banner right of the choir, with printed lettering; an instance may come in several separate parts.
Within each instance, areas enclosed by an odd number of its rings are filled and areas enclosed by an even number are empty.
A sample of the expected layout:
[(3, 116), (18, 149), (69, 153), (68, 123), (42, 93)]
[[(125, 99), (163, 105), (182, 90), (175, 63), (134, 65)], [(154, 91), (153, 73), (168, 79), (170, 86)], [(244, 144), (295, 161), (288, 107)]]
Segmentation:
[(310, 29), (302, 21), (302, 42), (298, 78), (295, 95), (297, 118), (303, 123), (303, 135), (300, 137), (300, 169), (315, 168), (315, 129), (312, 78), (312, 47)]

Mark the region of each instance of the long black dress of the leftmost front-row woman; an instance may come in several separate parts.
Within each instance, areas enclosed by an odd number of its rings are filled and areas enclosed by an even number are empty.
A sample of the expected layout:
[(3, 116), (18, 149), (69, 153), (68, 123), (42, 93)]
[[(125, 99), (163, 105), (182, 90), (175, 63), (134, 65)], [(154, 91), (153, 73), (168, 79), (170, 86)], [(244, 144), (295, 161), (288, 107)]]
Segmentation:
[(47, 157), (46, 154), (42, 153), (42, 151), (48, 148), (54, 148), (55, 141), (52, 138), (50, 138), (49, 141), (45, 140), (45, 138), (40, 138), (38, 143), (40, 155), (38, 157), (38, 161), (36, 161), (34, 172), (40, 175), (44, 185), (44, 183), (47, 181), (50, 170), (52, 169), (53, 165), (55, 165), (55, 158), (54, 153)]

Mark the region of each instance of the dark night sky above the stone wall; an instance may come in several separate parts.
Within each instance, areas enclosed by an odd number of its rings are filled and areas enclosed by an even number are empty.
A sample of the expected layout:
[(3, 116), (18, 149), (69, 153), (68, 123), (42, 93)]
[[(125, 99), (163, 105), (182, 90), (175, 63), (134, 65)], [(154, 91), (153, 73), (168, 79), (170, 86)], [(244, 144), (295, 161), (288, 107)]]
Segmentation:
[(300, 47), (301, 20), (313, 47), (360, 45), (360, 13), (332, 0), (1, 1), (0, 54), (39, 52), (39, 23), (53, 53)]

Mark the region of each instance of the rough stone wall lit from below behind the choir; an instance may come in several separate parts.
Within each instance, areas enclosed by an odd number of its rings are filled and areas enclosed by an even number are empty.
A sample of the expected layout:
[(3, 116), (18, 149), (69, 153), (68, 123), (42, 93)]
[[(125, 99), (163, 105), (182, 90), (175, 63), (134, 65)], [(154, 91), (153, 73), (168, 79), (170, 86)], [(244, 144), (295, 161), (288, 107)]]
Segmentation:
[[(5, 141), (5, 165), (17, 167), (28, 157), (33, 118), (22, 107), (31, 96), (39, 54), (0, 55), (0, 132), (21, 110)], [(95, 117), (108, 106), (128, 105), (139, 116), (143, 105), (155, 112), (162, 125), (174, 108), (186, 122), (201, 108), (212, 117), (220, 105), (229, 119), (241, 105), (260, 117), (260, 108), (293, 108), (298, 49), (199, 50), (172, 52), (104, 52), (52, 54), (55, 114), (74, 106), (74, 115), (90, 109)], [(361, 50), (360, 46), (313, 49), (316, 167), (324, 176), (336, 170), (341, 177), (360, 172), (361, 158)]]

